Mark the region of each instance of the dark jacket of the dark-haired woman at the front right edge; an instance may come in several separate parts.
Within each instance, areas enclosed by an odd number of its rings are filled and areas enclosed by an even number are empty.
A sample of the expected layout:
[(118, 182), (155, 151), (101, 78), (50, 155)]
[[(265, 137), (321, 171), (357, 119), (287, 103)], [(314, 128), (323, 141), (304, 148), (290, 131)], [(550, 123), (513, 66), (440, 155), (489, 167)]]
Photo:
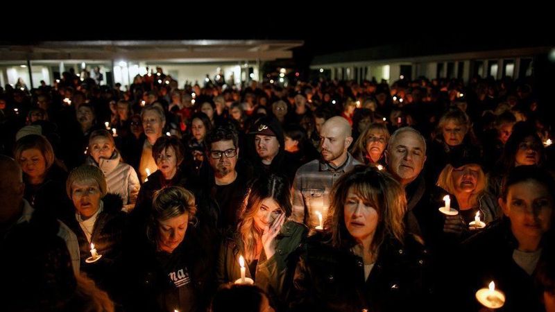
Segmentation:
[[(545, 257), (553, 248), (553, 235), (544, 235), (543, 250), (540, 258)], [(538, 285), (513, 260), (513, 251), (518, 241), (511, 231), (508, 218), (490, 223), (462, 244), (460, 262), (454, 263), (460, 276), (451, 281), (452, 293), (458, 294), (453, 311), (478, 311), (480, 304), (475, 293), (480, 288), (488, 288), (490, 281), (495, 288), (505, 294), (506, 302), (496, 311), (545, 311), (540, 302)], [(541, 260), (540, 260), (541, 261)]]

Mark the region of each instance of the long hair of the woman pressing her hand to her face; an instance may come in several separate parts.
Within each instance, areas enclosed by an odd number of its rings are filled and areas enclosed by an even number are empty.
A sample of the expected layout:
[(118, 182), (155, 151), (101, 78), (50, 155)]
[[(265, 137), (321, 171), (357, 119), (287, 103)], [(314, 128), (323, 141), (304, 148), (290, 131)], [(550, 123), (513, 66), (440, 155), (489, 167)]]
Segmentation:
[(285, 216), (291, 216), (291, 191), (286, 178), (271, 174), (259, 177), (250, 184), (250, 189), (241, 207), (241, 218), (237, 225), (237, 232), (242, 243), (247, 262), (256, 257), (256, 241), (260, 233), (255, 228), (254, 216), (266, 198), (273, 198), (278, 203)]

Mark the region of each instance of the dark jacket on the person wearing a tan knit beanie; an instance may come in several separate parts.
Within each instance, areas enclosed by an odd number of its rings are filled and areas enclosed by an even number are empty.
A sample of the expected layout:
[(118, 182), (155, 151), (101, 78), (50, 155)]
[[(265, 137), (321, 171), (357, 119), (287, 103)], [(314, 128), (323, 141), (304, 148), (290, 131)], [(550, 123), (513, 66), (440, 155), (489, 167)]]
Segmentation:
[(108, 193), (102, 198), (102, 202), (103, 209), (96, 218), (91, 236), (91, 242), (94, 243), (96, 252), (102, 254), (102, 258), (94, 263), (85, 262), (91, 257), (91, 246), (75, 214), (67, 215), (62, 221), (77, 236), (81, 271), (94, 279), (97, 286), (108, 291), (112, 300), (117, 300), (117, 266), (121, 261), (126, 214), (121, 211), (123, 202), (119, 196)]

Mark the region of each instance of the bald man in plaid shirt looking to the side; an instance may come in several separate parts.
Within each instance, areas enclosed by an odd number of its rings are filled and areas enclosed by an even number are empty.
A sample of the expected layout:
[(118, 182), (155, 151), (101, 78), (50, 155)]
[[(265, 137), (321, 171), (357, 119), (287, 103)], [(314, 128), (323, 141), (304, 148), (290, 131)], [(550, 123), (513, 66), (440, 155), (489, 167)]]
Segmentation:
[(348, 153), (351, 126), (341, 116), (327, 119), (320, 132), (321, 158), (301, 166), (293, 181), (291, 220), (314, 229), (325, 220), (332, 185), (344, 173), (361, 164)]

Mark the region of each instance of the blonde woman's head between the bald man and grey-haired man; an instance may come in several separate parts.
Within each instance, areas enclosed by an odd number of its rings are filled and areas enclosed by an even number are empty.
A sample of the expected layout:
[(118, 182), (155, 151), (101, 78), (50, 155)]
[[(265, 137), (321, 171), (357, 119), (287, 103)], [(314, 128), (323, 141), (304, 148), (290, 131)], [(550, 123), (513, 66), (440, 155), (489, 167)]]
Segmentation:
[(351, 155), (364, 164), (386, 165), (385, 153), (389, 131), (382, 123), (371, 124), (357, 139)]

